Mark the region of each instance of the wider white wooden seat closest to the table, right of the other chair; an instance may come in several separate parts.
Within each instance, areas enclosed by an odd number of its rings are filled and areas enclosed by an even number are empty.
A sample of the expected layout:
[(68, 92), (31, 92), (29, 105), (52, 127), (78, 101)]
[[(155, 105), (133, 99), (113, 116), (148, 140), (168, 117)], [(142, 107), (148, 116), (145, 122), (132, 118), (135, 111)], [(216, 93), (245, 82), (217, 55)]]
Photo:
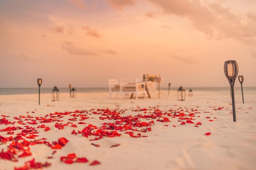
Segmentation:
[(135, 94), (135, 98), (138, 99), (139, 94), (144, 94), (146, 98), (146, 84), (139, 79), (125, 78), (120, 80), (120, 99), (122, 94)]

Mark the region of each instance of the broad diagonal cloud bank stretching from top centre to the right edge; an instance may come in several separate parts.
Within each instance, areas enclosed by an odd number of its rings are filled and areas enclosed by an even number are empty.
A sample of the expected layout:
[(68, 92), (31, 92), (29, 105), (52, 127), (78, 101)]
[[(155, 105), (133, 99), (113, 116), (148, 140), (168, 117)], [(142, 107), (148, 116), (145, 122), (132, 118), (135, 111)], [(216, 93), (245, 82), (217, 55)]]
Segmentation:
[[(107, 0), (115, 9), (134, 6), (139, 0)], [(221, 1), (201, 0), (146, 0), (162, 11), (162, 15), (187, 18), (191, 25), (209, 38), (237, 39), (256, 44), (256, 13), (235, 13), (223, 7)], [(147, 17), (155, 18), (153, 12)]]

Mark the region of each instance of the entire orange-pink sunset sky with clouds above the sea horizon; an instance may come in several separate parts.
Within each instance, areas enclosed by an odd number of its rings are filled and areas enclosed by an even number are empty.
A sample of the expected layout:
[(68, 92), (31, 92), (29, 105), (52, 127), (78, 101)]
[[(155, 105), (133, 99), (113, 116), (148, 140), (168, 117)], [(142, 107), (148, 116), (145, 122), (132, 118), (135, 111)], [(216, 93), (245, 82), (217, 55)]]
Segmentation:
[(0, 59), (0, 88), (228, 87), (228, 60), (256, 87), (256, 0), (0, 0)]

